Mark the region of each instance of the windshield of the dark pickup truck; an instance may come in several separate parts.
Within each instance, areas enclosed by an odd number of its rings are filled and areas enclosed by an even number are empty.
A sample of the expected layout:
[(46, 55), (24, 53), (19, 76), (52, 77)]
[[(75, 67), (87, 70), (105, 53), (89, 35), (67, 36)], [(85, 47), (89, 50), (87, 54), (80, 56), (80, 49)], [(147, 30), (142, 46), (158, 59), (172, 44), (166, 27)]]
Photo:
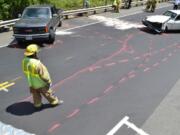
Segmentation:
[(48, 8), (27, 8), (22, 18), (50, 18), (50, 11)]

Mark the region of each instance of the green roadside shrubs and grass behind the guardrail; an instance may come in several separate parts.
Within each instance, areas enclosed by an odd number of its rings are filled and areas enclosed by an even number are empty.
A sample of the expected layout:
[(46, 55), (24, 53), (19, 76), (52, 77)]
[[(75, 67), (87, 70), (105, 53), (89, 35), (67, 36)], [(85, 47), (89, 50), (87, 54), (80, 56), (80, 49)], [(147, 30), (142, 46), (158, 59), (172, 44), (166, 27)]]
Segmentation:
[[(90, 7), (112, 4), (113, 0), (89, 0)], [(0, 20), (17, 18), (25, 7), (32, 4), (54, 4), (64, 10), (83, 8), (84, 0), (0, 0)]]

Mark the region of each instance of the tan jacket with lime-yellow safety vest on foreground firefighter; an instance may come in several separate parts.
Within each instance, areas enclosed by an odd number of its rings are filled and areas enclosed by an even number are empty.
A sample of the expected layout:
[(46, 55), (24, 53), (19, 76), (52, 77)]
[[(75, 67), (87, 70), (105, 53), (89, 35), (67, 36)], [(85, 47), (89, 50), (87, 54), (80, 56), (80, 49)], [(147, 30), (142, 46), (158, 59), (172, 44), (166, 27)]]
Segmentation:
[(30, 87), (39, 89), (51, 83), (47, 68), (40, 60), (25, 57), (22, 61), (22, 69)]

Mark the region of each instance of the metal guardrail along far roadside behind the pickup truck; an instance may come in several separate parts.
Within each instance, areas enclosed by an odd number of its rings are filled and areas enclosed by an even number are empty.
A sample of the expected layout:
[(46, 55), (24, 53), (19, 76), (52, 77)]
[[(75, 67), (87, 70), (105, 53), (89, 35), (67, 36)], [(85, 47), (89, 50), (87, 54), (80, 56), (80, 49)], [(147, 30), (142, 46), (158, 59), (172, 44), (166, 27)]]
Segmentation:
[[(159, 3), (160, 2), (165, 2), (168, 0), (157, 0)], [(131, 5), (132, 6), (140, 6), (144, 5), (146, 3), (146, 0), (134, 0)], [(125, 3), (121, 4), (121, 7), (124, 7)], [(85, 8), (85, 9), (77, 9), (77, 10), (68, 10), (68, 11), (63, 11), (62, 15), (65, 19), (68, 19), (70, 15), (78, 15), (78, 14), (87, 14), (87, 13), (96, 13), (98, 10), (104, 10), (106, 12), (108, 9), (112, 10), (112, 5), (107, 5), (107, 6), (100, 6), (100, 7), (94, 7), (94, 8)], [(8, 20), (8, 21), (1, 21), (0, 22), (0, 28), (6, 27), (6, 26), (12, 26), (16, 21), (19, 19), (13, 19), (13, 20)]]

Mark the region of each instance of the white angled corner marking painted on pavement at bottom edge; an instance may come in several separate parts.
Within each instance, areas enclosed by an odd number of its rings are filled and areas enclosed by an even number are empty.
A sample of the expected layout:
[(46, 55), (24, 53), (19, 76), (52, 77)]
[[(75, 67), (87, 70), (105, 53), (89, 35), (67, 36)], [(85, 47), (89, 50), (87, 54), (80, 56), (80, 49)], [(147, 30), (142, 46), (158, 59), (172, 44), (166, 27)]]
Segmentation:
[(123, 125), (127, 125), (129, 128), (132, 128), (140, 135), (149, 135), (144, 132), (142, 129), (138, 128), (133, 123), (129, 122), (129, 117), (125, 116), (111, 131), (109, 131), (106, 135), (114, 135)]

